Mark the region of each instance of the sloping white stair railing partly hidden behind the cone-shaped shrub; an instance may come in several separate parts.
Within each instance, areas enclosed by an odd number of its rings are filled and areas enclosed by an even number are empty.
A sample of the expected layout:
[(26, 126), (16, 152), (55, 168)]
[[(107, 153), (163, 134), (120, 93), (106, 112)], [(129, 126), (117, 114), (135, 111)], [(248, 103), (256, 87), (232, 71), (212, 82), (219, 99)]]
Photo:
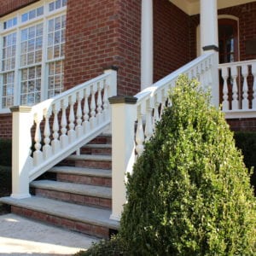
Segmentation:
[(143, 143), (153, 135), (154, 125), (160, 119), (166, 104), (171, 103), (168, 102), (168, 91), (175, 86), (178, 76), (184, 73), (189, 79), (198, 79), (204, 88), (211, 88), (212, 63), (213, 54), (205, 53), (135, 96), (137, 97), (136, 152), (138, 155), (143, 153)]

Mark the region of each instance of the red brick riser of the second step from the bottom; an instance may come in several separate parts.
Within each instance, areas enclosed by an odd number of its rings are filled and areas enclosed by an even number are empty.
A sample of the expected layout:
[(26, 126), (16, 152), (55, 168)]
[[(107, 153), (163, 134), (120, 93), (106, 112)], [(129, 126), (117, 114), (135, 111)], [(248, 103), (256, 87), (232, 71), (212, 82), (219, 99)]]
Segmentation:
[(41, 197), (46, 197), (49, 199), (56, 199), (59, 201), (67, 201), (69, 203), (90, 206), (90, 207), (99, 207), (105, 209), (111, 209), (112, 201), (108, 198), (100, 198), (90, 195), (78, 195), (62, 191), (55, 191), (49, 189), (38, 189), (33, 188), (32, 194), (39, 195)]

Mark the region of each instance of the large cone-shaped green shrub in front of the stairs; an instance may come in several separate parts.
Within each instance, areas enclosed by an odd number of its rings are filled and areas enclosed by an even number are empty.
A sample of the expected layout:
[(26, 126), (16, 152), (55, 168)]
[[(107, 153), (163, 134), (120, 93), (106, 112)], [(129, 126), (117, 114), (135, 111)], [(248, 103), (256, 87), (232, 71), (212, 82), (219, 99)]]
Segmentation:
[(255, 255), (255, 198), (223, 114), (181, 77), (132, 176), (120, 236), (130, 255)]

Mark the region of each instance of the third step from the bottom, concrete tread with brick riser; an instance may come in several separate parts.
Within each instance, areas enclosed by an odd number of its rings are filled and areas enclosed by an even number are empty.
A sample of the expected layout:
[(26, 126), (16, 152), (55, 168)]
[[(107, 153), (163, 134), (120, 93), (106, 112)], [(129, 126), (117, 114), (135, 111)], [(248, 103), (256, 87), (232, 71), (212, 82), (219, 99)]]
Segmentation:
[(112, 186), (111, 170), (75, 166), (55, 166), (48, 172), (55, 173), (55, 179), (61, 182), (105, 187)]

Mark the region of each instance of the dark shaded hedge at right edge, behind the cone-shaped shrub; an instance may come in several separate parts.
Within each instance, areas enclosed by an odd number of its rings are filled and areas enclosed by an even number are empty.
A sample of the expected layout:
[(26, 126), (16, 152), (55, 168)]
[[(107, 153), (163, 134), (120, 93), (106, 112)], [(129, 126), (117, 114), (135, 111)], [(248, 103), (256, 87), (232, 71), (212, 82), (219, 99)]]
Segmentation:
[(256, 132), (236, 131), (234, 134), (236, 147), (241, 149), (244, 156), (244, 163), (250, 170), (253, 167), (251, 183), (256, 194)]

